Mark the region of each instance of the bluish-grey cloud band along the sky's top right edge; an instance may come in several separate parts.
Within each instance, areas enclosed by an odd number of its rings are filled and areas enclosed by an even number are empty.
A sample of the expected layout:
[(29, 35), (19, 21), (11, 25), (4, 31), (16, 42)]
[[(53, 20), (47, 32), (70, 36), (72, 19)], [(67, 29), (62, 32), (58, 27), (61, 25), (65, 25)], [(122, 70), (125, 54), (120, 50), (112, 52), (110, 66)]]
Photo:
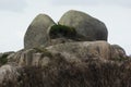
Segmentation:
[(129, 7), (131, 5), (131, 0), (49, 0), (52, 4), (59, 5), (120, 5), (120, 7)]

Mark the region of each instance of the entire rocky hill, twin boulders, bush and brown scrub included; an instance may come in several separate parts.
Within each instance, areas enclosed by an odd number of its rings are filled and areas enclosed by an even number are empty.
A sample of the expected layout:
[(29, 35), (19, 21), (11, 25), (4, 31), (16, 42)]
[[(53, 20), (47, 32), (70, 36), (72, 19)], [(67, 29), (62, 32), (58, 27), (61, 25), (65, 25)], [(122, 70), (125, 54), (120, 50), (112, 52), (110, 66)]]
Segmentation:
[(0, 53), (0, 87), (131, 87), (131, 57), (106, 41), (104, 23), (79, 11), (59, 23), (38, 15), (25, 49)]

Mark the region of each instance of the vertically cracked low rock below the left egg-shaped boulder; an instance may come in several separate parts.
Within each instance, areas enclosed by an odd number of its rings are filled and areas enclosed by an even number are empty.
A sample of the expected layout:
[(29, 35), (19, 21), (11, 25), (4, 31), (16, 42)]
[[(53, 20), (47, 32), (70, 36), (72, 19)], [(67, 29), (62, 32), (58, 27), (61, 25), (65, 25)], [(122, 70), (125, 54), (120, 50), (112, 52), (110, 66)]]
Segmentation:
[(37, 49), (25, 49), (10, 55), (9, 63), (15, 62), (19, 66), (44, 66), (49, 63), (49, 57)]

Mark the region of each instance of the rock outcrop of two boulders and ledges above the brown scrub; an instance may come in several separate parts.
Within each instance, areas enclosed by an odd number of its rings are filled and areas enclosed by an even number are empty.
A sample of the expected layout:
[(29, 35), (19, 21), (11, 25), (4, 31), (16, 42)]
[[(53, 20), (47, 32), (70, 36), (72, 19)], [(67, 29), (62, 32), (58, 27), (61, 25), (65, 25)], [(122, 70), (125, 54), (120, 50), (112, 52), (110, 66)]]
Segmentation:
[[(52, 26), (68, 26), (52, 28)], [(74, 29), (74, 38), (71, 33), (63, 35), (64, 29)], [(55, 30), (53, 38), (50, 36)], [(70, 30), (68, 30), (70, 32)], [(73, 33), (72, 33), (73, 35)], [(118, 45), (107, 42), (108, 30), (103, 22), (91, 15), (70, 10), (62, 15), (60, 21), (55, 23), (46, 14), (37, 15), (28, 26), (24, 37), (24, 49), (8, 57), (9, 62), (19, 63), (19, 65), (44, 65), (49, 60), (45, 55), (45, 50), (50, 54), (60, 53), (67, 60), (99, 58), (106, 60), (126, 59), (126, 51)], [(39, 52), (40, 51), (40, 52)], [(47, 52), (46, 51), (46, 52)], [(46, 57), (46, 58), (45, 58)]]

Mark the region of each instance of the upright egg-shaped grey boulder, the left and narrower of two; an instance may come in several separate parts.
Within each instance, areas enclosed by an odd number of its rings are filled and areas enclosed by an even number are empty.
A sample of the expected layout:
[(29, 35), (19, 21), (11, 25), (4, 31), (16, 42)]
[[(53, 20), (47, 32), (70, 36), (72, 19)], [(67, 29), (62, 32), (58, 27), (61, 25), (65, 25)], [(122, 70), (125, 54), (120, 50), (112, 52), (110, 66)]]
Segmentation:
[(46, 45), (47, 29), (51, 25), (55, 25), (55, 22), (48, 15), (37, 15), (28, 26), (24, 36), (24, 48), (29, 49)]

